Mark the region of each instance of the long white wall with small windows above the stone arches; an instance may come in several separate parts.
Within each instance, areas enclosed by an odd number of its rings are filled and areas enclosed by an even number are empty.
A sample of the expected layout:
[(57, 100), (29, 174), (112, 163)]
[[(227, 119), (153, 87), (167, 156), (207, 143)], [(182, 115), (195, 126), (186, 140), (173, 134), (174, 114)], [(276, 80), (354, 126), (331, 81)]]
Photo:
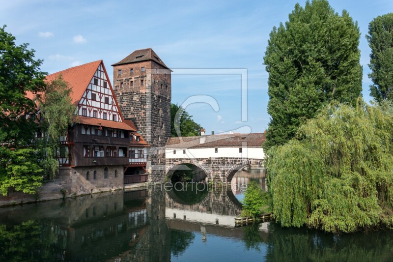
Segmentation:
[[(209, 157), (241, 157), (241, 158), (265, 158), (262, 147), (242, 147), (242, 152), (239, 152), (239, 147), (216, 147), (215, 148), (177, 148), (165, 149), (165, 158), (209, 158)], [(176, 151), (174, 154), (173, 151)], [(185, 150), (185, 153), (184, 153)]]

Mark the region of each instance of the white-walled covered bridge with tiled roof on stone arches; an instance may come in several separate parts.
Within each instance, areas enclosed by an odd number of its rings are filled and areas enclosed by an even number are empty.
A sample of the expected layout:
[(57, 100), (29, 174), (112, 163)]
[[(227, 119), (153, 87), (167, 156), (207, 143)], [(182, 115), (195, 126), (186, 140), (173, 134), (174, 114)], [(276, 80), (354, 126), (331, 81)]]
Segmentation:
[(209, 179), (229, 182), (246, 166), (263, 166), (264, 141), (264, 133), (169, 138), (166, 173), (179, 165), (193, 164)]

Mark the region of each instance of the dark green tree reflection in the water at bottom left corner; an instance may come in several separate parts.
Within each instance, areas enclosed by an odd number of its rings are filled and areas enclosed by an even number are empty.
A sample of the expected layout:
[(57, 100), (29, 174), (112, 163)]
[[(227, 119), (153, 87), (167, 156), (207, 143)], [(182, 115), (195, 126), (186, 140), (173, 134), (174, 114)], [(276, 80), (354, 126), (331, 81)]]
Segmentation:
[(61, 254), (57, 236), (51, 225), (34, 220), (10, 229), (0, 225), (0, 261), (54, 261)]

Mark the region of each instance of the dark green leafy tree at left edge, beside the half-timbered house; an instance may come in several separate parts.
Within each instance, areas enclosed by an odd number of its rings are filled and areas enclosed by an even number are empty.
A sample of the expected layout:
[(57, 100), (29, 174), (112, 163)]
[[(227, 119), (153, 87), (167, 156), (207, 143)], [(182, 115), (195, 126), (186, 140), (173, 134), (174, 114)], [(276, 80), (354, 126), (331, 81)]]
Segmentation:
[(45, 88), (46, 73), (39, 71), (42, 60), (34, 60), (28, 44), (15, 45), (15, 37), (0, 28), (0, 144), (26, 146), (36, 130), (35, 104), (26, 97)]

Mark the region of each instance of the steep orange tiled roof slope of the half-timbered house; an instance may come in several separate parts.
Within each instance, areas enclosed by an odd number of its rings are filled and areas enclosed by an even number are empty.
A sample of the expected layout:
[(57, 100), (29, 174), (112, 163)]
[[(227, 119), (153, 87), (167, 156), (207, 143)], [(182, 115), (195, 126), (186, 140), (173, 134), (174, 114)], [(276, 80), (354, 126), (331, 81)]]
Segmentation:
[(81, 100), (86, 87), (90, 83), (95, 71), (101, 63), (102, 60), (97, 60), (83, 65), (74, 66), (63, 71), (50, 74), (45, 80), (47, 82), (51, 82), (61, 74), (63, 80), (68, 82), (72, 89), (70, 94), (72, 103), (77, 104)]

